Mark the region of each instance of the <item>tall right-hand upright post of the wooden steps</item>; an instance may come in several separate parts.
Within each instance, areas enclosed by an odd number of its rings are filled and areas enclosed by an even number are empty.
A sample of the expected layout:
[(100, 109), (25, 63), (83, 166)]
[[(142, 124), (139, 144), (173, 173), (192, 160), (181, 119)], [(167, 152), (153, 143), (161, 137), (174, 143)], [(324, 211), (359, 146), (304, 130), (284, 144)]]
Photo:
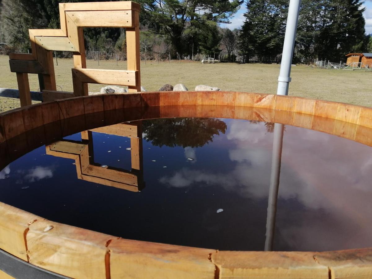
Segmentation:
[(137, 83), (128, 86), (128, 92), (141, 91), (141, 59), (140, 59), (140, 17), (139, 13), (132, 12), (132, 22), (134, 28), (127, 28), (126, 33), (126, 53), (127, 68), (129, 71), (138, 71)]

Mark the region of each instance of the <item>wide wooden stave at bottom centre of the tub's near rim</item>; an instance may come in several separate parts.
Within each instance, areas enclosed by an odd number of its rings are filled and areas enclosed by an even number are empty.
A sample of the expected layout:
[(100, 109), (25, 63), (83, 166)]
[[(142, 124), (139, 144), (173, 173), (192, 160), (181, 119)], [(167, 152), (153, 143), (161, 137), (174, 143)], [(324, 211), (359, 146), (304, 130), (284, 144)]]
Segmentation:
[(209, 260), (216, 252), (212, 249), (120, 238), (112, 240), (108, 248), (111, 278), (218, 278)]

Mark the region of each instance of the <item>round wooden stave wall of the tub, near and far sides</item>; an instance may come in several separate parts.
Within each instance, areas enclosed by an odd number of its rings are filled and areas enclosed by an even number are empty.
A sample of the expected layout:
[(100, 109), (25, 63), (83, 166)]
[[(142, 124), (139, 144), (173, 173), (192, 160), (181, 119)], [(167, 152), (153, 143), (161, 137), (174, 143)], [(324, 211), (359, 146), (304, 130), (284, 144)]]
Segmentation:
[[(9, 151), (0, 154), (6, 158), (0, 169), (52, 138), (103, 126), (97, 115), (105, 119), (105, 125), (177, 116), (276, 122), (372, 146), (372, 108), (368, 107), (245, 92), (102, 94), (1, 113), (0, 145), (8, 147), (0, 149)], [(27, 137), (35, 129), (41, 135), (44, 132), (44, 141)], [(218, 251), (126, 240), (52, 222), (4, 203), (0, 212), (0, 249), (72, 278), (372, 278), (372, 248)], [(49, 226), (53, 228), (44, 231)]]

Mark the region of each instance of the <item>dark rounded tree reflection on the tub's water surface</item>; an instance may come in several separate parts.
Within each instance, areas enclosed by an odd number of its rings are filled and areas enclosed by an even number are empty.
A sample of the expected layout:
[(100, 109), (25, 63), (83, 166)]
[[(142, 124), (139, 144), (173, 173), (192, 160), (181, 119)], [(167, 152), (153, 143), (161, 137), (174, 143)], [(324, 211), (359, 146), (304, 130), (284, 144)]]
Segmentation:
[[(227, 125), (215, 118), (167, 118), (142, 121), (146, 141), (162, 147), (202, 147), (214, 135), (225, 134)], [(191, 135), (191, 136), (190, 136)]]

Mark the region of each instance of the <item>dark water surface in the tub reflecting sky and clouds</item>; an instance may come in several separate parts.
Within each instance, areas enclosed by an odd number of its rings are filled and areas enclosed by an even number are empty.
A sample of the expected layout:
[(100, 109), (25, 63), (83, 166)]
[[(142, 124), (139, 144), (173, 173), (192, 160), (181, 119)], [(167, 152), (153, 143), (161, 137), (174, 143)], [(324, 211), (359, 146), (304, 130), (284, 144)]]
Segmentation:
[[(273, 129), (169, 118), (74, 134), (3, 169), (0, 201), (123, 238), (263, 250)], [(371, 147), (286, 125), (274, 250), (371, 247), (371, 181)]]

